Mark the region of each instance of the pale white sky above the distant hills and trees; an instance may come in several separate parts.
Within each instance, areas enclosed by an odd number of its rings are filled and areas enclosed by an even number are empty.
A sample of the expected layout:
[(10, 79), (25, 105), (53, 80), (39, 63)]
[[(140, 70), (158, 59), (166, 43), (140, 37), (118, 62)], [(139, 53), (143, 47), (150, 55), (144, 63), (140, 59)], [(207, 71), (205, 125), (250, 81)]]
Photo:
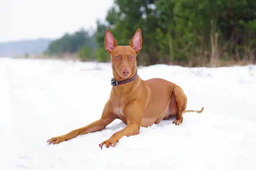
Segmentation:
[(95, 29), (113, 0), (0, 0), (0, 42)]

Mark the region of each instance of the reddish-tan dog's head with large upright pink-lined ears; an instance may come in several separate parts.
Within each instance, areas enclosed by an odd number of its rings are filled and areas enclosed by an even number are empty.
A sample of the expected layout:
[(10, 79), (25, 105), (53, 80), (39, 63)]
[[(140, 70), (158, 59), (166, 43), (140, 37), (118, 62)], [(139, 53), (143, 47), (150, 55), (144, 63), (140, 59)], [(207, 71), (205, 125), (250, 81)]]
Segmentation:
[(135, 74), (137, 70), (136, 56), (141, 50), (141, 43), (142, 37), (140, 29), (135, 32), (128, 46), (118, 46), (113, 34), (110, 30), (106, 30), (105, 49), (110, 54), (115, 78), (124, 80)]

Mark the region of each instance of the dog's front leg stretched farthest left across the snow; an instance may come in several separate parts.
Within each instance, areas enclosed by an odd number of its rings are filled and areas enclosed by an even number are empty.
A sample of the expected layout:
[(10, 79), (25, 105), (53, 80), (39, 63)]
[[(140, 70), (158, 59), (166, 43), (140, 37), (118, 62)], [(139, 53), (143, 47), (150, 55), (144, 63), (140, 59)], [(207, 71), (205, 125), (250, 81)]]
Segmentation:
[(108, 101), (104, 107), (104, 110), (102, 112), (102, 116), (99, 120), (90, 123), (87, 126), (84, 126), (83, 128), (79, 128), (76, 130), (73, 130), (65, 135), (61, 135), (58, 137), (51, 138), (47, 140), (48, 143), (58, 144), (63, 141), (70, 140), (72, 138), (77, 137), (78, 135), (82, 135), (85, 133), (91, 133), (96, 132), (99, 130), (104, 129), (107, 125), (109, 125), (111, 122), (113, 122), (117, 118), (116, 115), (113, 114), (112, 111), (112, 105)]

